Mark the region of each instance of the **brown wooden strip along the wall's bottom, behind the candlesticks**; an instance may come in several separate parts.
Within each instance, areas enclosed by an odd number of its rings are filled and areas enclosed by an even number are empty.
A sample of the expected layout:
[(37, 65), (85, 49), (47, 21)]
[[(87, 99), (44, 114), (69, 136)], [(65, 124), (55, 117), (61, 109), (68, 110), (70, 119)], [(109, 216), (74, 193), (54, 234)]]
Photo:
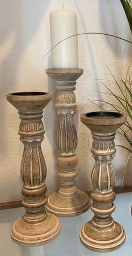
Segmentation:
[[(116, 194), (132, 192), (132, 186), (125, 186), (124, 188), (121, 188), (121, 186), (115, 186), (114, 191)], [(85, 192), (88, 195), (90, 195), (91, 193), (91, 191), (85, 191)], [(22, 207), (22, 201), (0, 203), (0, 210), (18, 208), (18, 207)]]

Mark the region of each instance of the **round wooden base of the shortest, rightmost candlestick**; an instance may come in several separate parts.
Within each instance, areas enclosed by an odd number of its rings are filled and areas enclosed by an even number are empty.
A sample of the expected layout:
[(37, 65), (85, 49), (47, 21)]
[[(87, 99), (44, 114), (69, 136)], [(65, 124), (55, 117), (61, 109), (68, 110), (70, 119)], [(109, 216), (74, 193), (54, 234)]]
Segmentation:
[(95, 230), (89, 221), (81, 229), (80, 240), (85, 247), (95, 252), (111, 252), (124, 244), (125, 231), (117, 222), (107, 230)]

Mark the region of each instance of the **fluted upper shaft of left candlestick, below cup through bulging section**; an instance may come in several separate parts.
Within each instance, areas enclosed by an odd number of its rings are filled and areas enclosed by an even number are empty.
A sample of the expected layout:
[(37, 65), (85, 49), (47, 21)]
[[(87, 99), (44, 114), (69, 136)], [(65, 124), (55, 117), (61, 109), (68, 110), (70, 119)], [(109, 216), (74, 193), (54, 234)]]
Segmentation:
[(20, 140), (24, 144), (21, 177), (25, 186), (39, 186), (46, 178), (46, 163), (41, 150), (44, 126), (41, 112), (20, 112)]

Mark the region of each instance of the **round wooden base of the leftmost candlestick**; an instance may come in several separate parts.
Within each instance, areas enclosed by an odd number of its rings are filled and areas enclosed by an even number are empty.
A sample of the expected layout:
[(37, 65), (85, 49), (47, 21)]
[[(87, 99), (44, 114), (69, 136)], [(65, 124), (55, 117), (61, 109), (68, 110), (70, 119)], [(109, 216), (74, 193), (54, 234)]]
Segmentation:
[(23, 246), (44, 245), (59, 235), (60, 222), (53, 214), (47, 213), (43, 222), (29, 224), (24, 217), (18, 218), (11, 229), (11, 238)]

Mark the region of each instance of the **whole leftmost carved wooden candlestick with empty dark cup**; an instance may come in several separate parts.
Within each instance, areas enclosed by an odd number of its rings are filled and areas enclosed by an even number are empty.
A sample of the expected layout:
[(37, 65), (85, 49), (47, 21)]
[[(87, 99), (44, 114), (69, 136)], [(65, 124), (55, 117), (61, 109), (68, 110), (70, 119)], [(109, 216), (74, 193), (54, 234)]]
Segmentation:
[(7, 95), (7, 100), (18, 109), (20, 115), (20, 140), (24, 144), (21, 177), (23, 181), (23, 206), (25, 216), (18, 218), (11, 229), (11, 237), (17, 244), (37, 246), (49, 243), (60, 232), (56, 216), (46, 213), (46, 164), (41, 151), (44, 126), (43, 109), (50, 102), (51, 93), (23, 92)]

